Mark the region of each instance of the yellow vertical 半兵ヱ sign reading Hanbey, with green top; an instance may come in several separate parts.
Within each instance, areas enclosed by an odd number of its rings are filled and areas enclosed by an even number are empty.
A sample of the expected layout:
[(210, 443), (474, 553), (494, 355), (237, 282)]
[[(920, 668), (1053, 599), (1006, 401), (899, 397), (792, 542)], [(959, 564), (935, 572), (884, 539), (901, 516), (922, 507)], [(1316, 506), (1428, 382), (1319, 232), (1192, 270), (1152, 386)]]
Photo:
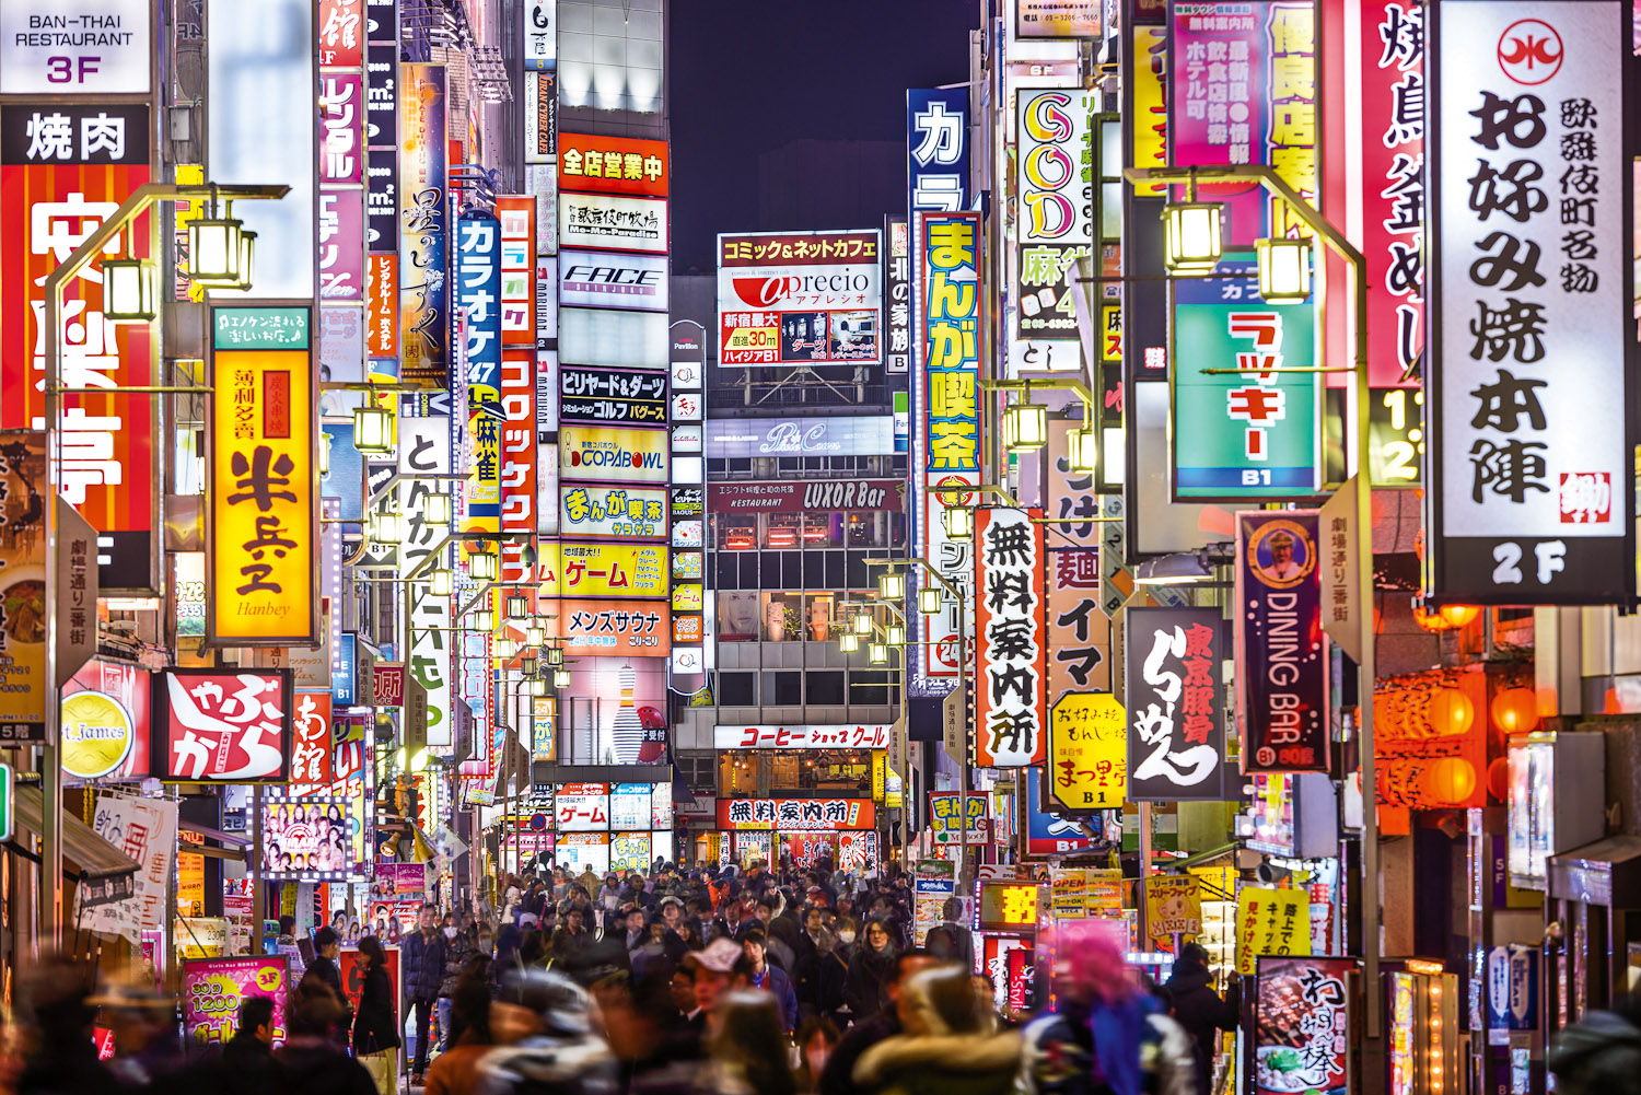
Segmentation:
[(213, 307), (207, 557), (215, 645), (318, 639), (318, 488), (307, 307)]

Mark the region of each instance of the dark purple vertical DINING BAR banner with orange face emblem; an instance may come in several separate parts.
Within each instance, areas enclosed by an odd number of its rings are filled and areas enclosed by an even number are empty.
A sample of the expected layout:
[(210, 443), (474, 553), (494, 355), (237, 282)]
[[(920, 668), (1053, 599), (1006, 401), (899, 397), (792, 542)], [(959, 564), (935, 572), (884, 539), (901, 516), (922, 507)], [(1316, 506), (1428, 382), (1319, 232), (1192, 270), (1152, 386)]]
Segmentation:
[(1321, 515), (1237, 514), (1236, 663), (1242, 772), (1328, 772)]

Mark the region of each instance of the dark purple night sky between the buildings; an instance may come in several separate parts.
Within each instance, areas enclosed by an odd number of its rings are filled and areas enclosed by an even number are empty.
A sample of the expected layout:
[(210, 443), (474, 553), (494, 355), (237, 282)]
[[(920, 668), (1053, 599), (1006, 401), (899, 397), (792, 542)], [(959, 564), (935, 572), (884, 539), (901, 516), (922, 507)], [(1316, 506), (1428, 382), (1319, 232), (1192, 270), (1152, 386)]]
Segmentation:
[[(758, 225), (758, 153), (906, 141), (906, 89), (968, 79), (978, 0), (671, 0), (673, 269)], [(906, 181), (881, 212), (906, 210)]]

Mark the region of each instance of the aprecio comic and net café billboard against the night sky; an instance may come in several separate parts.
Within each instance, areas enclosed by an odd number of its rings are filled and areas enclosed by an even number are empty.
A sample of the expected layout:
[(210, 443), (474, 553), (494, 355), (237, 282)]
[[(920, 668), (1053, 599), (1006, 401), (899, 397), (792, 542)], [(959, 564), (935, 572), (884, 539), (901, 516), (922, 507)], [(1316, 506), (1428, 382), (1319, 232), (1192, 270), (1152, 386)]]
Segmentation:
[(719, 364), (883, 361), (883, 231), (719, 235)]

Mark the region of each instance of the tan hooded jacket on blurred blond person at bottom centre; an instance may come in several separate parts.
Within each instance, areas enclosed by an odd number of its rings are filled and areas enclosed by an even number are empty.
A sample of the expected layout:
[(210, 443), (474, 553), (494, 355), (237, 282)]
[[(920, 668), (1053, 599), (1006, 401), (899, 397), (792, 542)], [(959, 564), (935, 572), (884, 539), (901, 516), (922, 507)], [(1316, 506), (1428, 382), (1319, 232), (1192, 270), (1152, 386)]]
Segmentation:
[(855, 1062), (855, 1085), (883, 1095), (1008, 1095), (1021, 1064), (1019, 1031), (953, 1031), (919, 992), (901, 988), (912, 1019)]

